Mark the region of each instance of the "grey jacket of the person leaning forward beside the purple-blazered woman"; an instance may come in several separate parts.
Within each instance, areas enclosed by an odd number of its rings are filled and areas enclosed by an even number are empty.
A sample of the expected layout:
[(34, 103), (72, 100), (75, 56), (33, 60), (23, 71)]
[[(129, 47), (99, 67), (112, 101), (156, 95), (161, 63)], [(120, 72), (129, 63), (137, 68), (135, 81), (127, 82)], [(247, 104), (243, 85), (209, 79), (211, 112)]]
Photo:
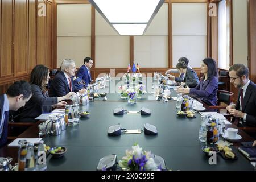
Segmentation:
[(175, 78), (176, 82), (185, 82), (189, 88), (194, 88), (199, 84), (199, 78), (196, 75), (196, 72), (191, 68), (187, 68), (187, 72), (184, 80), (180, 80), (180, 78)]

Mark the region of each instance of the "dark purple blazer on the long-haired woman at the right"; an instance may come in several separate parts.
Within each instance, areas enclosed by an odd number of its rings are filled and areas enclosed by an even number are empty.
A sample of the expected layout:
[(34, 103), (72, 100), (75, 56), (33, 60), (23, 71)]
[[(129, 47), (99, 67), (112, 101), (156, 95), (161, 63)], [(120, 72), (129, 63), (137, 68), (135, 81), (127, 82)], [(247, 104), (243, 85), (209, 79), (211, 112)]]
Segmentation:
[(210, 106), (217, 105), (218, 78), (212, 77), (200, 81), (195, 88), (190, 89), (190, 93), (200, 98), (201, 101)]

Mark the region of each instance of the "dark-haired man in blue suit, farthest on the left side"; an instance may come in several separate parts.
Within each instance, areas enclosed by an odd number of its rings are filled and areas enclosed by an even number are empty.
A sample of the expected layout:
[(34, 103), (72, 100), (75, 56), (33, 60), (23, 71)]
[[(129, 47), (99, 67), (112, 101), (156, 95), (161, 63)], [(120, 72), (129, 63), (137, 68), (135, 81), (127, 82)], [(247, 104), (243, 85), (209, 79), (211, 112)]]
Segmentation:
[(85, 57), (84, 65), (79, 68), (79, 71), (76, 73), (76, 77), (82, 78), (85, 81), (86, 85), (92, 82), (92, 76), (90, 75), (90, 68), (92, 68), (93, 60), (90, 57)]

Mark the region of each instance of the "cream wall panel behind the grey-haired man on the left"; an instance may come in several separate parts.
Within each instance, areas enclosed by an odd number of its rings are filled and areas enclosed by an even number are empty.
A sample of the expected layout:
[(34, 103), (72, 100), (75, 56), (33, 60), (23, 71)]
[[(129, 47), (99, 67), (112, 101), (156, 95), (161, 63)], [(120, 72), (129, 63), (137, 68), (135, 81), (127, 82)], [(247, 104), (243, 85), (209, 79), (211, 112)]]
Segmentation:
[(90, 4), (57, 5), (57, 67), (65, 58), (80, 67), (90, 56), (91, 8)]

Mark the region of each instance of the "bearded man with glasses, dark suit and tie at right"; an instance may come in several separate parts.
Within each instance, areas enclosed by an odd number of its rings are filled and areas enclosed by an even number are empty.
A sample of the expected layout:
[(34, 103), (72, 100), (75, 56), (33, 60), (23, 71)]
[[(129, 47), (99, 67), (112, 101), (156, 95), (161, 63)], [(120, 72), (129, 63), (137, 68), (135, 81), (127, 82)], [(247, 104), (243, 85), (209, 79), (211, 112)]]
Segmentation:
[(239, 88), (237, 105), (231, 104), (226, 109), (239, 118), (238, 126), (256, 126), (256, 85), (249, 80), (249, 69), (243, 64), (234, 64), (229, 68), (230, 82)]

